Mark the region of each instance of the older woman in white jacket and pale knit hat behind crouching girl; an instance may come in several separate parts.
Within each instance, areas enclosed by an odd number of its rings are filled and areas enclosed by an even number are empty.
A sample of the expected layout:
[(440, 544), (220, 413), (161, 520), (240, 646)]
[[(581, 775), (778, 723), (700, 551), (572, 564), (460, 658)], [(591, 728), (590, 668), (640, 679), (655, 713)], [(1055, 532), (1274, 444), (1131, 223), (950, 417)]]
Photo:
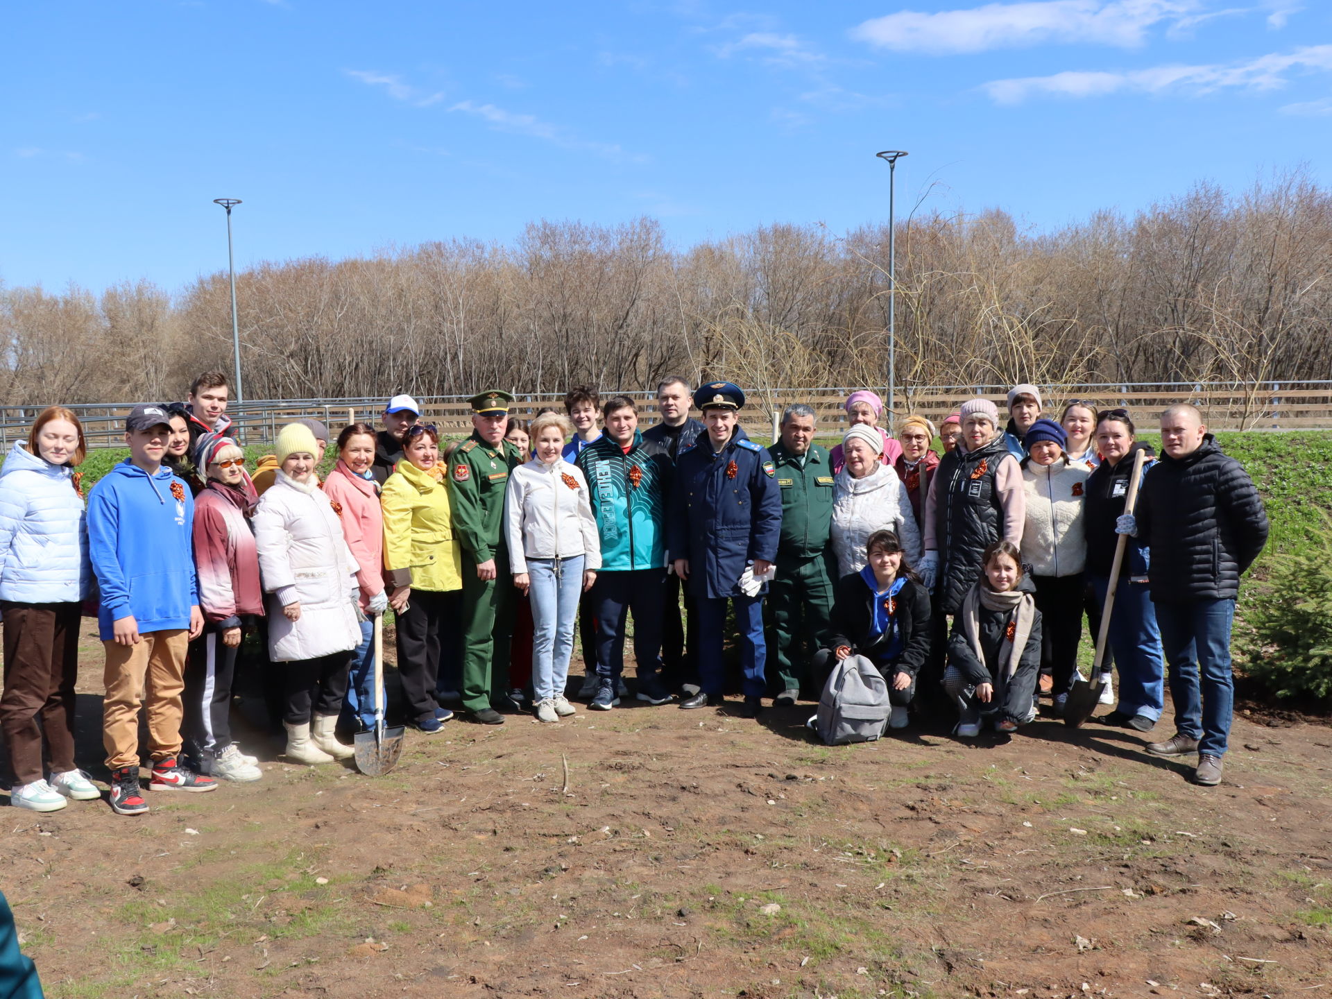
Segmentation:
[(908, 565), (914, 565), (920, 558), (920, 529), (902, 480), (882, 461), (879, 432), (862, 424), (852, 426), (842, 438), (842, 453), (846, 466), (836, 473), (832, 492), (832, 551), (838, 574), (864, 569), (864, 543), (876, 530), (896, 534)]

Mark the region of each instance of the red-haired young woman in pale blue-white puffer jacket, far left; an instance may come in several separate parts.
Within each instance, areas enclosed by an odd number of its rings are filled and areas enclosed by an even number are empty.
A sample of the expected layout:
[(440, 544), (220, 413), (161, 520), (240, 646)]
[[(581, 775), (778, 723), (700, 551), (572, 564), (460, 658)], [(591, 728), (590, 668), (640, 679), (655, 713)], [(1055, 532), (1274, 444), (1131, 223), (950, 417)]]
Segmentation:
[(9, 803), (33, 811), (56, 811), (67, 798), (101, 797), (75, 767), (79, 617), (92, 570), (73, 466), (85, 452), (79, 418), (52, 406), (37, 417), (27, 441), (15, 441), (0, 470), (0, 729), (15, 773)]

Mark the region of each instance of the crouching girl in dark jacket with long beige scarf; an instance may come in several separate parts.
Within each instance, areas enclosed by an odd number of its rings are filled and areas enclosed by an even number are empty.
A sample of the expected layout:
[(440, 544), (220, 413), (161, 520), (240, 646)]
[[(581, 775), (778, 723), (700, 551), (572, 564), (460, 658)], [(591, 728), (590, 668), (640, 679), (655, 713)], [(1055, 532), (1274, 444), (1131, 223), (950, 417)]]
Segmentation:
[(1040, 674), (1040, 611), (1018, 589), (1018, 549), (996, 541), (982, 555), (982, 575), (962, 601), (948, 641), (943, 689), (958, 705), (955, 734), (980, 734), (982, 718), (996, 731), (1015, 731), (1036, 717)]

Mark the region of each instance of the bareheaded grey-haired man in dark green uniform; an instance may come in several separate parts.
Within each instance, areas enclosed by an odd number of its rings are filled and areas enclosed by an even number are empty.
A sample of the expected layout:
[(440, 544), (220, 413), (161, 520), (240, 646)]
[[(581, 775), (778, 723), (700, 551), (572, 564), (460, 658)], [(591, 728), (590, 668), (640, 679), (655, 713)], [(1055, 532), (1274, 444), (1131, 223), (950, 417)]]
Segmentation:
[[(803, 402), (782, 413), (782, 440), (767, 449), (782, 489), (782, 539), (777, 578), (767, 591), (769, 625), (782, 693), (791, 706), (809, 675), (810, 657), (827, 645), (832, 613), (832, 462), (814, 444), (814, 410)], [(805, 639), (802, 650), (801, 639)], [(815, 691), (810, 691), (815, 694)]]

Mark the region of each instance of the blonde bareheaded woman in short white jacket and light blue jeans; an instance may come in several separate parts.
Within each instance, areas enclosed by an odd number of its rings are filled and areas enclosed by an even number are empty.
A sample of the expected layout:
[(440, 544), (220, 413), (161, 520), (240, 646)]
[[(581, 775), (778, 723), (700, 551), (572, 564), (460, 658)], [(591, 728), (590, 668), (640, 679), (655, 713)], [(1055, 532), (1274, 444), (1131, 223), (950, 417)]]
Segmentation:
[(535, 714), (555, 722), (574, 714), (565, 699), (578, 597), (601, 569), (601, 535), (587, 481), (561, 457), (573, 424), (559, 413), (531, 421), (537, 457), (509, 476), (505, 531), (513, 582), (531, 598), (531, 689)]

